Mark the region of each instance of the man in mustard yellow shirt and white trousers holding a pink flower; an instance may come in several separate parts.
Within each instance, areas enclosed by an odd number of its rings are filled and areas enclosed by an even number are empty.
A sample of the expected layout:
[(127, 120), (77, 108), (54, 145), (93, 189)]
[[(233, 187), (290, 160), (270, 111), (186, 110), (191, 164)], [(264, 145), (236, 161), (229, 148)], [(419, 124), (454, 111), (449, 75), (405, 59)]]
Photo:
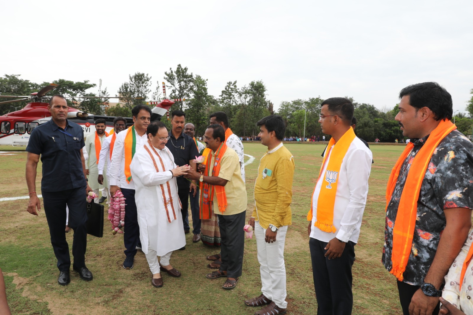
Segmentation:
[(254, 228), (262, 294), (246, 300), (247, 306), (265, 306), (254, 314), (286, 314), (286, 267), (284, 242), (291, 224), (294, 157), (282, 144), (286, 126), (279, 115), (257, 122), (261, 144), (268, 147), (254, 184), (255, 207), (248, 222)]

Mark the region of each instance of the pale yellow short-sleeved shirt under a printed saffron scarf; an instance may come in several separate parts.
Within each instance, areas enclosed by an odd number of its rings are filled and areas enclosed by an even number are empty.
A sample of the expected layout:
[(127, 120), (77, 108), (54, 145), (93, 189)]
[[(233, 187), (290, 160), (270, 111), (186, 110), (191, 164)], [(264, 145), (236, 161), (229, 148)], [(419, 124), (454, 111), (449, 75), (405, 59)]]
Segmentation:
[[(215, 154), (212, 154), (210, 165), (215, 163)], [(209, 176), (212, 176), (209, 170)], [(225, 154), (220, 161), (219, 177), (228, 180), (225, 187), (227, 195), (227, 208), (224, 212), (219, 211), (217, 194), (213, 194), (213, 212), (224, 216), (238, 214), (246, 211), (248, 198), (246, 197), (245, 182), (241, 177), (240, 160), (235, 150), (227, 148)]]

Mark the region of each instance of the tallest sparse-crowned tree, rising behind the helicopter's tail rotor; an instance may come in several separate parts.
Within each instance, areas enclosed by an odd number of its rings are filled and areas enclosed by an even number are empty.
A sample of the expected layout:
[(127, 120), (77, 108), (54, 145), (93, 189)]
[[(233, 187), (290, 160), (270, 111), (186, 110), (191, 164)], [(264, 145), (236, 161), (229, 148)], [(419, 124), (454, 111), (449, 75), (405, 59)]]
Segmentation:
[[(187, 67), (183, 68), (181, 64), (177, 65), (175, 71), (169, 68), (169, 72), (164, 72), (164, 79), (169, 84), (166, 87), (170, 88), (168, 98), (190, 98), (192, 93), (192, 86), (194, 83), (193, 74), (187, 73)], [(159, 82), (158, 82), (159, 85)], [(176, 105), (180, 110), (183, 110), (183, 103), (179, 102)]]

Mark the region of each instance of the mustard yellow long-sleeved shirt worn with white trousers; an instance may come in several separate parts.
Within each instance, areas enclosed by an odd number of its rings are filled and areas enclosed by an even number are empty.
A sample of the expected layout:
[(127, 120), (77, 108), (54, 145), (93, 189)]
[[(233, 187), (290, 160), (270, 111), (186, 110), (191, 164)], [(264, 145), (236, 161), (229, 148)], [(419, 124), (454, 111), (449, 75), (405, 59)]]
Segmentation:
[(254, 183), (252, 217), (263, 228), (270, 224), (276, 228), (291, 224), (294, 169), (294, 157), (282, 142), (261, 158)]

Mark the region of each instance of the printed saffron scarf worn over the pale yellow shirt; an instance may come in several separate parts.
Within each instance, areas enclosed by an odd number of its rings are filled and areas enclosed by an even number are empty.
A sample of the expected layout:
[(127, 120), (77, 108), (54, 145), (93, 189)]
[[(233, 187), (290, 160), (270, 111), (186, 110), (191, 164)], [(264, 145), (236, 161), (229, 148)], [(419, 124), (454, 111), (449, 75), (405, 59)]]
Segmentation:
[[(219, 176), (220, 162), (222, 161), (222, 157), (225, 154), (225, 151), (227, 151), (227, 144), (225, 142), (222, 142), (219, 146), (219, 149), (217, 149), (217, 151), (215, 152), (215, 160), (213, 165), (210, 165), (210, 162), (212, 160), (212, 151), (210, 150), (210, 153), (206, 157), (204, 174), (208, 174), (209, 176)], [(225, 194), (225, 186), (210, 185), (209, 183), (203, 182), (201, 182), (199, 186), (201, 189), (201, 219), (210, 219), (212, 215), (212, 206), (210, 202), (213, 202), (214, 191), (217, 194), (217, 203), (219, 204), (219, 211), (221, 213), (225, 212), (225, 208), (227, 208), (227, 195)]]

